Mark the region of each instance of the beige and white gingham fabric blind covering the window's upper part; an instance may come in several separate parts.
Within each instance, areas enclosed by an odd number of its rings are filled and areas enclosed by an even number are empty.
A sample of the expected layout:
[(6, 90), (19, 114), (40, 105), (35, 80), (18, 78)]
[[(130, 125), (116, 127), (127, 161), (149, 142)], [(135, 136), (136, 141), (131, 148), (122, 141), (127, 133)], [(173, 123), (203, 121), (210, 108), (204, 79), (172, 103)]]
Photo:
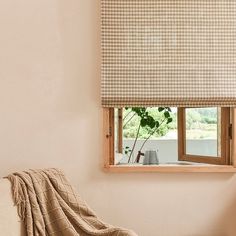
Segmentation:
[(235, 106), (236, 0), (101, 0), (102, 105)]

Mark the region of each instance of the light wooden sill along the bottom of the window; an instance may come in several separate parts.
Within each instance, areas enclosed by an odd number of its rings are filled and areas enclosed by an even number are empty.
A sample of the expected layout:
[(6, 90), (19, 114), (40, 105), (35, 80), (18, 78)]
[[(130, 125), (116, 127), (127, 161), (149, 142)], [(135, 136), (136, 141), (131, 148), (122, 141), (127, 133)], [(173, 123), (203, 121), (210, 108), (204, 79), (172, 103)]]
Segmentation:
[(159, 172), (159, 173), (235, 173), (236, 167), (230, 165), (175, 165), (175, 164), (161, 164), (161, 165), (109, 165), (105, 166), (106, 172), (114, 173), (132, 173), (132, 172)]

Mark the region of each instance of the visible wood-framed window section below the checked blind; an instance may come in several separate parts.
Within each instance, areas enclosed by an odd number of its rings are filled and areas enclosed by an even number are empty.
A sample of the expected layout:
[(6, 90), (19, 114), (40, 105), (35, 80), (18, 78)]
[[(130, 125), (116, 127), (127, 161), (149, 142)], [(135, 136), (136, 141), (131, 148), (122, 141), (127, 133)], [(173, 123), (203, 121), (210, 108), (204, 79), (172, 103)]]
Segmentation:
[[(230, 108), (105, 108), (104, 118), (106, 167), (201, 170), (232, 164)], [(156, 163), (147, 163), (148, 151), (157, 153)]]

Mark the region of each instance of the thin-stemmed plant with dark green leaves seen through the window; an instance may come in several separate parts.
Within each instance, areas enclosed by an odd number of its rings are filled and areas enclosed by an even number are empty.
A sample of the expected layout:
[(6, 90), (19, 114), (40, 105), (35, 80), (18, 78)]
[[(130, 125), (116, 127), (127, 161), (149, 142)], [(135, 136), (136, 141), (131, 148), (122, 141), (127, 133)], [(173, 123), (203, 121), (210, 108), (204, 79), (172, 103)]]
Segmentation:
[[(146, 107), (132, 107), (132, 108), (125, 108), (125, 109), (128, 110), (128, 112), (127, 112), (128, 115), (126, 114), (124, 119), (127, 119), (127, 117), (128, 117), (128, 119), (126, 122), (124, 122), (123, 128), (129, 122), (132, 122), (132, 119), (138, 118), (138, 120), (139, 120), (133, 146), (131, 149), (129, 147), (128, 147), (129, 149), (125, 149), (125, 154), (129, 153), (129, 159), (128, 159), (128, 163), (129, 163), (131, 160), (132, 154), (134, 152), (134, 149), (136, 147), (137, 140), (138, 140), (139, 133), (140, 133), (141, 129), (145, 129), (147, 131), (147, 135), (145, 136), (145, 139), (141, 145), (141, 148), (138, 151), (138, 153), (139, 153), (138, 155), (142, 154), (142, 149), (143, 149), (144, 145), (147, 143), (147, 141), (151, 138), (151, 136), (155, 132), (160, 130), (160, 128), (164, 124), (168, 125), (169, 123), (171, 123), (173, 118), (171, 117), (171, 109), (169, 107), (158, 107), (157, 108), (158, 113), (162, 114), (161, 118), (160, 118), (160, 116), (156, 117)], [(127, 150), (129, 150), (129, 152), (127, 152)]]

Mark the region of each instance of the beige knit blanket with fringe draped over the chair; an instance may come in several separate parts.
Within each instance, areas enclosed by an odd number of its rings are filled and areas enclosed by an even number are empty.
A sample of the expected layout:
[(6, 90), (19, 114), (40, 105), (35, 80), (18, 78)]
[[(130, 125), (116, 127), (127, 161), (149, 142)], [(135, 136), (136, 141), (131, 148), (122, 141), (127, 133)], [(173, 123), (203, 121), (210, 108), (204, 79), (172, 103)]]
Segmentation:
[(57, 169), (7, 176), (28, 236), (137, 236), (99, 220)]

